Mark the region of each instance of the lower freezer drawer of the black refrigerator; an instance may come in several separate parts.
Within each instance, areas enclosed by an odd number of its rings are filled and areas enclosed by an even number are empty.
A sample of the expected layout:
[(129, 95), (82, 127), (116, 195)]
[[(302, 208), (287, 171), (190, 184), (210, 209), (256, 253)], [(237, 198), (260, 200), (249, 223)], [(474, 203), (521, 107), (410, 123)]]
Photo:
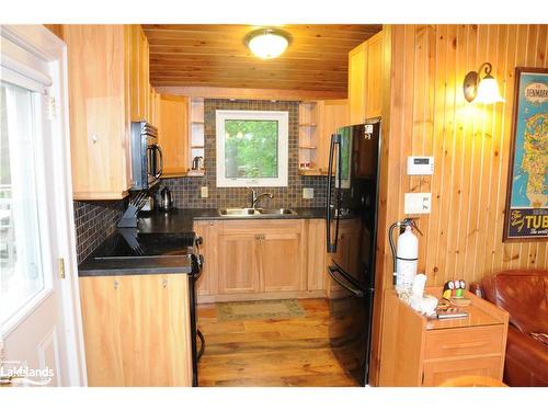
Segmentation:
[(339, 285), (329, 300), (329, 339), (331, 350), (343, 369), (357, 385), (368, 381), (373, 289), (364, 289), (336, 265), (328, 267)]

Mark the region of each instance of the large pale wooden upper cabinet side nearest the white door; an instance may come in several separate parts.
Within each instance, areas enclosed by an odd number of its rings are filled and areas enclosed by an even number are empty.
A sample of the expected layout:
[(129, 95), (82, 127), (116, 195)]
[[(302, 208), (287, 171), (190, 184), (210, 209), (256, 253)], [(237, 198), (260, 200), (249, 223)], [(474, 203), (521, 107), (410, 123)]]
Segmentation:
[(130, 32), (124, 25), (62, 27), (67, 44), (75, 199), (119, 199), (132, 186)]

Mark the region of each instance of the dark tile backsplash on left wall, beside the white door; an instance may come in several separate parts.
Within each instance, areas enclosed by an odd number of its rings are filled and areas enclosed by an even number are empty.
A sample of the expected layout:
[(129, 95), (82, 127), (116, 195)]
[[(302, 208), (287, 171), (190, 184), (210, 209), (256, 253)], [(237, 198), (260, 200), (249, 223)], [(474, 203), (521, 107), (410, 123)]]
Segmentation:
[(75, 201), (76, 251), (81, 263), (106, 237), (114, 232), (116, 222), (126, 208), (126, 201)]

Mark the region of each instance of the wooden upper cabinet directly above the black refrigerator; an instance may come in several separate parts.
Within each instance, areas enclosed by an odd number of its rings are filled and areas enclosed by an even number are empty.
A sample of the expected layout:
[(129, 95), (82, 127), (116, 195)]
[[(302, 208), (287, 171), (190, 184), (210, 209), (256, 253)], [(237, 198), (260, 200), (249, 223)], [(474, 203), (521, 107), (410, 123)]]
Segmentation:
[(383, 32), (349, 53), (349, 115), (351, 124), (378, 117), (383, 107)]

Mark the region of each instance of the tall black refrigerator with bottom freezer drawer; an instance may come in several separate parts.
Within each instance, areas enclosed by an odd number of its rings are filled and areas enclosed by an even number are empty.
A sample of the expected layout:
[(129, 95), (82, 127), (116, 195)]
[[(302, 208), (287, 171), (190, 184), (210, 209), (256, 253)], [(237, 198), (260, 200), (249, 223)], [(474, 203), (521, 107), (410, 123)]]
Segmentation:
[(331, 136), (326, 237), (333, 354), (357, 385), (368, 384), (380, 155), (380, 119)]

